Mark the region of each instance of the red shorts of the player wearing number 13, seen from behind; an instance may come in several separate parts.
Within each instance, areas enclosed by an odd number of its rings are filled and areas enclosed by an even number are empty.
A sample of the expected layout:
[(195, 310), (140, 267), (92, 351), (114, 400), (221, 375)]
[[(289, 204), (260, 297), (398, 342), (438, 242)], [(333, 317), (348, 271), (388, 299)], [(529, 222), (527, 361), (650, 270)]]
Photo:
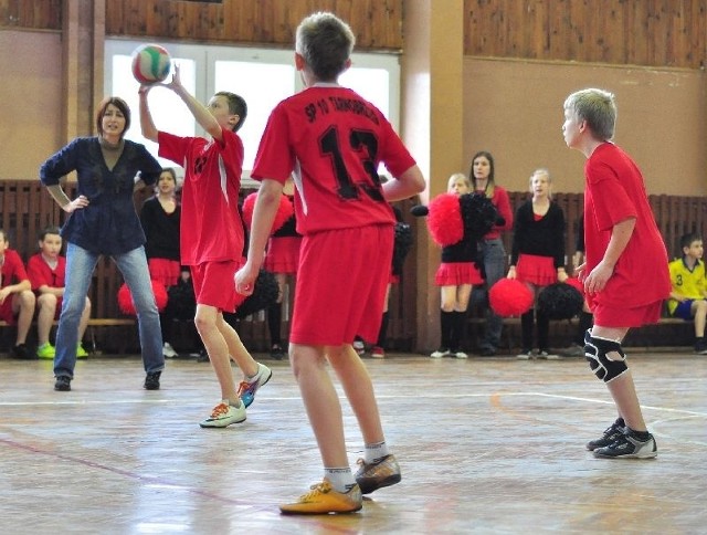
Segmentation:
[(306, 235), (289, 342), (309, 346), (374, 342), (393, 253), (393, 227), (377, 224)]

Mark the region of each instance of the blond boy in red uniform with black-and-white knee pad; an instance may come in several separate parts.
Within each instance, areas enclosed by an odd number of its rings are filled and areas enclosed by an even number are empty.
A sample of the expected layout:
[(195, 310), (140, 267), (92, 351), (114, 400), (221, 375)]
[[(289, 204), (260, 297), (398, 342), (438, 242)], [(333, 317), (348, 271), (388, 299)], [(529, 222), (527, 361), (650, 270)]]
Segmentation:
[(594, 325), (584, 336), (584, 355), (619, 412), (587, 448), (597, 458), (650, 459), (657, 455), (657, 448), (621, 342), (631, 327), (658, 322), (671, 280), (643, 176), (631, 157), (611, 143), (615, 122), (614, 95), (606, 91), (578, 91), (564, 101), (564, 141), (587, 157), (585, 260), (578, 271)]

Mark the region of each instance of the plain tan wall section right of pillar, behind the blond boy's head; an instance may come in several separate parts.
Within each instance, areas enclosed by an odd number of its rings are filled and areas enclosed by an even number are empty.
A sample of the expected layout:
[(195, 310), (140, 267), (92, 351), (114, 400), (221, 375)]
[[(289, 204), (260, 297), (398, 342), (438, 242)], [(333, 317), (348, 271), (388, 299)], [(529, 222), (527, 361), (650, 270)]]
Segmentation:
[(464, 171), (477, 150), (494, 155), (511, 191), (547, 167), (556, 191), (583, 190), (584, 155), (564, 145), (562, 103), (602, 87), (616, 95), (615, 138), (643, 170), (651, 193), (707, 195), (707, 91), (703, 71), (466, 56)]

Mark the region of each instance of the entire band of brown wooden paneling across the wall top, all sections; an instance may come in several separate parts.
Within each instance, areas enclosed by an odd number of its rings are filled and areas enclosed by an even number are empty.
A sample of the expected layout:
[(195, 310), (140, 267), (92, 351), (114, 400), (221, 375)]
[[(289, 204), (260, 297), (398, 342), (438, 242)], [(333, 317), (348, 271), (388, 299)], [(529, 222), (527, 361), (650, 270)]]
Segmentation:
[[(403, 48), (403, 0), (172, 0), (105, 2), (106, 34), (292, 46), (299, 20), (331, 10), (358, 50)], [(0, 0), (0, 28), (61, 31), (63, 0)], [(705, 0), (465, 0), (468, 55), (699, 69)]]

